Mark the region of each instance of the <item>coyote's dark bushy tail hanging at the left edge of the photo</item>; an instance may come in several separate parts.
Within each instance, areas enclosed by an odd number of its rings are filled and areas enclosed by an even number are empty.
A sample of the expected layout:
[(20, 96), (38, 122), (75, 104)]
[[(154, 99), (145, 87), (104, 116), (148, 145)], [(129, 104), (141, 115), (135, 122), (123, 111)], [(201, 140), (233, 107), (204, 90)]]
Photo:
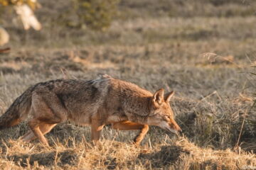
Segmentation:
[(27, 89), (21, 96), (16, 98), (14, 103), (0, 117), (0, 130), (18, 125), (24, 120), (31, 108), (32, 88)]

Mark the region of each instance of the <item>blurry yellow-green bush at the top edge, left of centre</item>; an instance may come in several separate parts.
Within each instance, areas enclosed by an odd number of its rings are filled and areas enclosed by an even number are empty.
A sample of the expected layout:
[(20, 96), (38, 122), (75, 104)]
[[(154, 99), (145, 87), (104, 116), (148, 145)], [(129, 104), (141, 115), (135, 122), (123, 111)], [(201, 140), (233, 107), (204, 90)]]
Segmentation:
[(78, 26), (105, 30), (117, 14), (117, 3), (118, 0), (74, 0)]

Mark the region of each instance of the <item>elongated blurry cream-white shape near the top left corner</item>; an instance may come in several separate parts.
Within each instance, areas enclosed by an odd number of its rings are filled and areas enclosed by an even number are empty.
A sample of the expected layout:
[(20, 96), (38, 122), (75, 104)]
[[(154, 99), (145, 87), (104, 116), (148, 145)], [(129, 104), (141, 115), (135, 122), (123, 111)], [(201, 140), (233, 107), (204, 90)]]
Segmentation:
[(21, 21), (25, 30), (28, 30), (31, 27), (35, 30), (41, 30), (41, 23), (39, 23), (32, 9), (28, 5), (17, 5), (15, 6), (15, 11), (21, 16)]

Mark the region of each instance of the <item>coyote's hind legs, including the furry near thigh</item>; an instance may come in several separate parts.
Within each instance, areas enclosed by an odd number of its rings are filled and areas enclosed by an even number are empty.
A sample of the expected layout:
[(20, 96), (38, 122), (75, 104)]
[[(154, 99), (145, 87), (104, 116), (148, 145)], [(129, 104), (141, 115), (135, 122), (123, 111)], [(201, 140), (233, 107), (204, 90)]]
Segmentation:
[(26, 134), (23, 139), (30, 141), (37, 137), (41, 143), (48, 145), (43, 134), (49, 132), (55, 124), (65, 122), (68, 112), (58, 96), (47, 89), (38, 90), (33, 94), (31, 106), (33, 117), (28, 121), (28, 125), (33, 134)]

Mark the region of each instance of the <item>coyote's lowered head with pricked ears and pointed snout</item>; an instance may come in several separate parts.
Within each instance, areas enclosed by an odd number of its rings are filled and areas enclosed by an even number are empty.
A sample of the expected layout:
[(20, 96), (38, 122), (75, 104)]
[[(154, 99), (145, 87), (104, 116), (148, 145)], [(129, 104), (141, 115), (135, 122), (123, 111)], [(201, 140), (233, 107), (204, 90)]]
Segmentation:
[(181, 128), (174, 120), (174, 113), (171, 110), (169, 101), (174, 96), (174, 91), (164, 94), (164, 89), (156, 91), (149, 101), (149, 118), (147, 123), (149, 125), (156, 125), (169, 132), (174, 132), (176, 135)]

